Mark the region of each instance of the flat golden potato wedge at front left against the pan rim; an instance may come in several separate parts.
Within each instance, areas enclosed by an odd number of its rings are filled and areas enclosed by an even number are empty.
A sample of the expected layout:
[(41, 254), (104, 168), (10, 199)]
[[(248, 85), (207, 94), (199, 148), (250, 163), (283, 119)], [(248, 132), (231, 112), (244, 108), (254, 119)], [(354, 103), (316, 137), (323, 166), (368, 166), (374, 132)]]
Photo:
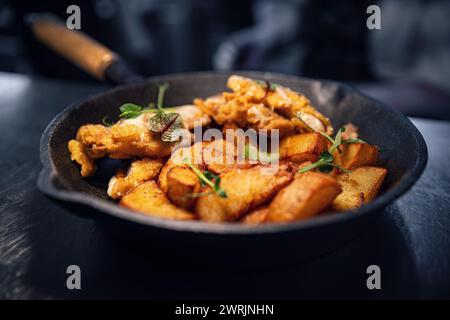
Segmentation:
[(172, 204), (155, 181), (147, 181), (131, 190), (119, 203), (145, 215), (175, 220), (194, 220), (195, 215)]

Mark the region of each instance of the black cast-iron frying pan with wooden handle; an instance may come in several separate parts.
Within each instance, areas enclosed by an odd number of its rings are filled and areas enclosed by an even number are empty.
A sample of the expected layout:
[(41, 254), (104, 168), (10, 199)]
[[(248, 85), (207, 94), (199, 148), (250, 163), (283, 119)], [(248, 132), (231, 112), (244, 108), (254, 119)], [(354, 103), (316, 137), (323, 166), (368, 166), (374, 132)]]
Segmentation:
[[(132, 80), (130, 84), (71, 105), (53, 119), (41, 139), (43, 169), (38, 187), (74, 212), (88, 213), (107, 222), (106, 230), (119, 235), (120, 241), (132, 240), (131, 245), (142, 252), (159, 251), (171, 256), (194, 256), (199, 263), (220, 261), (249, 267), (284, 264), (323, 254), (370, 227), (371, 219), (376, 219), (387, 205), (408, 191), (424, 170), (426, 145), (409, 119), (347, 85), (260, 72), (186, 73), (136, 81), (137, 77), (117, 55), (85, 36), (42, 16), (35, 18), (32, 26), (38, 38), (97, 78), (114, 83)], [(355, 123), (362, 139), (381, 147), (382, 165), (389, 170), (380, 196), (355, 212), (322, 215), (285, 225), (249, 227), (164, 220), (121, 208), (108, 200), (105, 192), (108, 174), (113, 172), (108, 161), (100, 162), (99, 173), (94, 178), (81, 178), (67, 150), (67, 142), (75, 137), (81, 125), (101, 123), (105, 116), (117, 119), (118, 107), (126, 102), (154, 101), (153, 84), (168, 82), (167, 104), (180, 105), (191, 103), (195, 97), (226, 90), (226, 79), (232, 73), (266, 79), (304, 93), (330, 117), (335, 127)]]

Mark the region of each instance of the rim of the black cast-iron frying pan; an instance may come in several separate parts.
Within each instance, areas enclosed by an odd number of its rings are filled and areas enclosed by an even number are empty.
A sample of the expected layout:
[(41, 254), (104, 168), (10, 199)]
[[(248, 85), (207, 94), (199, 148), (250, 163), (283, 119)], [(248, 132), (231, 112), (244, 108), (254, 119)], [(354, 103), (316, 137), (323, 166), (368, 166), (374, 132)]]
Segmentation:
[[(54, 128), (60, 121), (64, 120), (73, 110), (81, 106), (86, 101), (107, 94), (111, 94), (112, 92), (118, 90), (126, 89), (127, 87), (131, 87), (133, 84), (138, 83), (155, 82), (166, 79), (174, 80), (177, 78), (186, 78), (186, 77), (203, 77), (203, 76), (209, 77), (214, 75), (229, 75), (229, 74), (242, 74), (248, 75), (250, 77), (254, 76), (259, 78), (282, 77), (283, 79), (292, 81), (301, 80), (317, 83), (327, 83), (343, 87), (348, 91), (353, 91), (362, 98), (377, 104), (377, 106), (381, 108), (384, 112), (391, 113), (397, 118), (399, 118), (399, 120), (401, 120), (401, 122), (404, 124), (404, 126), (414, 139), (417, 150), (416, 161), (414, 165), (410, 168), (410, 171), (401, 178), (400, 182), (395, 187), (393, 187), (389, 191), (386, 191), (371, 203), (366, 204), (357, 210), (346, 211), (333, 215), (317, 216), (307, 220), (297, 221), (289, 224), (273, 223), (267, 225), (263, 224), (259, 226), (248, 226), (236, 223), (209, 223), (204, 221), (177, 221), (152, 217), (125, 209), (123, 207), (118, 206), (116, 203), (100, 199), (85, 194), (83, 192), (58, 189), (54, 185), (53, 182), (56, 179), (56, 170), (51, 158), (50, 149), (48, 147), (53, 135)], [(382, 209), (384, 209), (389, 204), (392, 204), (395, 200), (397, 200), (399, 197), (405, 194), (415, 184), (415, 182), (422, 175), (428, 160), (428, 151), (425, 140), (420, 131), (414, 126), (414, 124), (408, 117), (404, 116), (400, 111), (390, 108), (386, 106), (384, 103), (366, 96), (365, 94), (357, 90), (354, 86), (339, 81), (324, 80), (324, 79), (309, 79), (282, 73), (240, 70), (240, 71), (201, 71), (201, 72), (167, 74), (149, 77), (133, 84), (120, 85), (110, 90), (90, 96), (88, 99), (82, 102), (70, 104), (68, 107), (66, 107), (52, 119), (52, 121), (48, 124), (48, 126), (44, 130), (40, 140), (40, 160), (43, 169), (39, 174), (37, 185), (38, 189), (41, 192), (58, 200), (87, 205), (93, 209), (101, 211), (103, 214), (106, 213), (119, 219), (124, 219), (129, 222), (138, 223), (149, 227), (163, 228), (179, 232), (210, 233), (221, 235), (276, 234), (276, 233), (295, 232), (300, 230), (313, 229), (330, 224), (344, 223), (350, 219), (359, 219), (360, 217), (371, 213), (381, 212)]]

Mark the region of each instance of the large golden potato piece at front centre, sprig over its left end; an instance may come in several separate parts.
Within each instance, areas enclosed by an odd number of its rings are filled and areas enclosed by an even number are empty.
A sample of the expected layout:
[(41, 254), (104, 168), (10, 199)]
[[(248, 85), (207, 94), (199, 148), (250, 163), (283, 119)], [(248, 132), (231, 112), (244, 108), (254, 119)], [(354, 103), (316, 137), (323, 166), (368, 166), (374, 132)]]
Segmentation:
[(221, 175), (220, 185), (228, 197), (221, 198), (216, 194), (200, 197), (195, 204), (195, 213), (205, 221), (235, 221), (247, 211), (270, 200), (292, 180), (292, 174), (285, 167), (280, 166), (272, 175), (261, 174), (262, 167), (234, 169)]

